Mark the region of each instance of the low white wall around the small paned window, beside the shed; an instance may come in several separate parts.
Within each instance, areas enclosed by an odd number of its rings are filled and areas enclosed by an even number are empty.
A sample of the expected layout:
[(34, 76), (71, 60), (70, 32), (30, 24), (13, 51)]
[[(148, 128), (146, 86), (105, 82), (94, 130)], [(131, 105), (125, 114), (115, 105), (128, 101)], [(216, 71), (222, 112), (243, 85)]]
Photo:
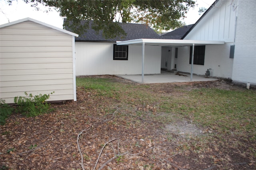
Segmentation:
[[(129, 45), (128, 61), (113, 60), (113, 43), (76, 42), (76, 76), (141, 74), (142, 46)], [(145, 47), (144, 74), (160, 74), (161, 47)]]

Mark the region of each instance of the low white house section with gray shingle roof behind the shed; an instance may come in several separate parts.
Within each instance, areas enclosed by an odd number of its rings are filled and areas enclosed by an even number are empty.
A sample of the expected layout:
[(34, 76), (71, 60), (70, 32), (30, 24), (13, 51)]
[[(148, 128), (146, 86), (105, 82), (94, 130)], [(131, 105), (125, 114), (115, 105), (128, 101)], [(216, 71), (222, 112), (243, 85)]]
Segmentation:
[[(81, 24), (84, 22), (82, 21)], [(90, 21), (91, 24), (92, 21)], [(76, 76), (141, 74), (141, 46), (116, 46), (116, 41), (129, 41), (138, 38), (160, 39), (160, 36), (146, 24), (119, 24), (127, 33), (124, 38), (105, 39), (102, 32), (97, 34), (91, 28), (75, 38)], [(146, 47), (146, 74), (160, 74), (160, 54), (161, 47)]]

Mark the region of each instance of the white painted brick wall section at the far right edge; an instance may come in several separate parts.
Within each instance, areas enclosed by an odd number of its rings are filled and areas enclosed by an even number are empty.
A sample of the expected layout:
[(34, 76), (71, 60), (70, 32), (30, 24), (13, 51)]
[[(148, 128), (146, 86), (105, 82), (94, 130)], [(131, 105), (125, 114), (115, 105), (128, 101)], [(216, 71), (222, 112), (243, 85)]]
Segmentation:
[(256, 1), (240, 1), (232, 80), (256, 84)]

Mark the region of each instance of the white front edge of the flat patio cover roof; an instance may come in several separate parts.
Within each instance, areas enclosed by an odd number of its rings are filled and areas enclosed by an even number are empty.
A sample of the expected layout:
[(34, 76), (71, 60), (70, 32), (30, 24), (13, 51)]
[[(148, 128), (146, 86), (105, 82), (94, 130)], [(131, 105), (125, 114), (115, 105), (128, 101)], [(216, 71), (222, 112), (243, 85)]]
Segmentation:
[(169, 46), (187, 46), (187, 45), (206, 45), (206, 44), (224, 44), (225, 41), (201, 41), (201, 40), (183, 40), (183, 39), (134, 39), (128, 41), (116, 41), (117, 45), (169, 45)]

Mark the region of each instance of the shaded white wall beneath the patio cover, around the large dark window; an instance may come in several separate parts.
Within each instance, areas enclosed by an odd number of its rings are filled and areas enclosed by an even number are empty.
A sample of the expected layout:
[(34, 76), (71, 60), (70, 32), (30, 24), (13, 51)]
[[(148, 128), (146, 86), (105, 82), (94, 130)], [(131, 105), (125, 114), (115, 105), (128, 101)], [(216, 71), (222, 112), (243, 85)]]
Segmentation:
[[(194, 64), (193, 73), (198, 75), (204, 75), (206, 70), (211, 68), (210, 76), (231, 78), (233, 59), (229, 58), (230, 44), (232, 45), (232, 43), (225, 43), (225, 45), (206, 45), (204, 65)], [(190, 47), (178, 47), (178, 71), (191, 71), (189, 57)]]

